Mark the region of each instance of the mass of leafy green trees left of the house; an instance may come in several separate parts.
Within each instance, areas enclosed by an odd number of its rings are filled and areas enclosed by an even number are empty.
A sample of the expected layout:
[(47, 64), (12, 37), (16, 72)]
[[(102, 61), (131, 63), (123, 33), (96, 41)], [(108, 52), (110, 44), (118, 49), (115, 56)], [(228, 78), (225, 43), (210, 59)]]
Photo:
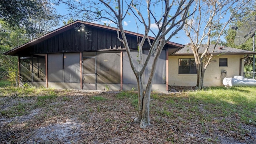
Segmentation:
[(4, 52), (52, 31), (59, 20), (49, 0), (0, 0), (0, 70), (18, 69), (18, 58)]

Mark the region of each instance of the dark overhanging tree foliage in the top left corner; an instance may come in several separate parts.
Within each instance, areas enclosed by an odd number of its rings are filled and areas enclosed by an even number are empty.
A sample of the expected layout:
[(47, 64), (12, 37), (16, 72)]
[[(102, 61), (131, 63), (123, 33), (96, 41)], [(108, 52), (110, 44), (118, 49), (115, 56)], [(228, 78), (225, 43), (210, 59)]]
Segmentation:
[(49, 0), (0, 0), (0, 19), (36, 38), (58, 26), (60, 15)]

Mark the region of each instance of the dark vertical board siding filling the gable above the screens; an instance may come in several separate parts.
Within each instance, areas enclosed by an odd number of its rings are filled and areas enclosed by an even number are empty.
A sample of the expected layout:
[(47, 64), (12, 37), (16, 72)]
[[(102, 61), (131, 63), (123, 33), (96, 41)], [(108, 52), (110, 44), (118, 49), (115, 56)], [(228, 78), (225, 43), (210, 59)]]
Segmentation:
[[(124, 44), (117, 38), (115, 30), (106, 30), (93, 26), (86, 26), (86, 32), (75, 29), (66, 30), (52, 38), (48, 38), (30, 47), (31, 54), (46, 54), (60, 52), (87, 52), (96, 50), (120, 49)], [(120, 38), (122, 38), (120, 34)], [(137, 36), (126, 34), (131, 49), (137, 49)], [(143, 48), (149, 48), (145, 42)]]

